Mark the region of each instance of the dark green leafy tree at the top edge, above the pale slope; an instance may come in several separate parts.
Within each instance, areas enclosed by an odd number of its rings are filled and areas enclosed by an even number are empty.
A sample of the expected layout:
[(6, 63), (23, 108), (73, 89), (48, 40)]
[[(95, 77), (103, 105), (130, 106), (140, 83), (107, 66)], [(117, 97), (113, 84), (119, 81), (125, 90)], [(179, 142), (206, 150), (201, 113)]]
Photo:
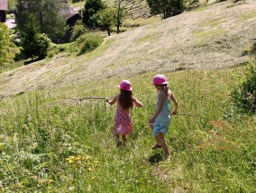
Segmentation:
[(151, 14), (160, 14), (162, 19), (182, 13), (184, 10), (183, 0), (147, 0), (151, 8)]

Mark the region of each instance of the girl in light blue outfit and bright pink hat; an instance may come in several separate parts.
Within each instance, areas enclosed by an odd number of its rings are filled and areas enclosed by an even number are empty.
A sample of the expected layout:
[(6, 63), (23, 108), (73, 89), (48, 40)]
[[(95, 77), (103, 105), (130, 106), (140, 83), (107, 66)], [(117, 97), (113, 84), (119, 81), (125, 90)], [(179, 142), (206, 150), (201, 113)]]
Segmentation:
[[(164, 136), (167, 135), (169, 130), (170, 116), (177, 114), (178, 101), (169, 90), (169, 83), (164, 75), (155, 75), (152, 84), (155, 85), (158, 92), (157, 109), (154, 116), (149, 120), (153, 136), (155, 136), (157, 142), (156, 145), (152, 146), (152, 149), (163, 148), (164, 156), (169, 158), (169, 150)], [(170, 100), (174, 104), (171, 115), (169, 113)]]

